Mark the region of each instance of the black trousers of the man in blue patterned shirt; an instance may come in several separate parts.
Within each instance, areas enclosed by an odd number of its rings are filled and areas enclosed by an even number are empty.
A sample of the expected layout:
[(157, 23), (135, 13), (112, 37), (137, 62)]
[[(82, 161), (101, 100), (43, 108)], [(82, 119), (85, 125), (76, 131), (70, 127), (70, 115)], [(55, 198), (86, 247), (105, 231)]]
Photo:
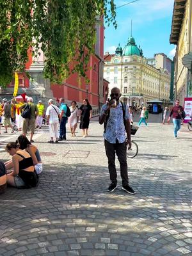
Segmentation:
[(115, 153), (118, 157), (118, 161), (120, 163), (120, 174), (122, 177), (122, 185), (126, 186), (129, 184), (128, 173), (127, 173), (127, 145), (126, 143), (118, 143), (116, 141), (115, 144), (109, 143), (105, 140), (105, 148), (106, 148), (106, 156), (108, 157), (108, 168), (109, 168), (109, 176), (110, 180), (113, 183), (117, 183), (116, 180), (116, 167), (115, 167)]

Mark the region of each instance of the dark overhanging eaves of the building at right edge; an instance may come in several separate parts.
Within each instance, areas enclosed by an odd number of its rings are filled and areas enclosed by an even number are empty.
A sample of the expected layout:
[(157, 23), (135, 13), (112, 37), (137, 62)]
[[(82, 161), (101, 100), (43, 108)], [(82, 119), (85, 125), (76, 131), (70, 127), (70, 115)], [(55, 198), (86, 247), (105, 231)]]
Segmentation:
[(180, 30), (182, 28), (182, 21), (184, 19), (187, 1), (188, 0), (175, 0), (174, 2), (170, 44), (177, 44), (179, 40)]

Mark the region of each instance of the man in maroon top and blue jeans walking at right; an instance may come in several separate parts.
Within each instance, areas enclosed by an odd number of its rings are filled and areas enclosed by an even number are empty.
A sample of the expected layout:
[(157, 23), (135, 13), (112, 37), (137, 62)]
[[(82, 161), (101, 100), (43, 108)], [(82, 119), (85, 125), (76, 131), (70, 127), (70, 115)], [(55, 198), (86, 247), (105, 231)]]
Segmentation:
[(177, 132), (180, 130), (180, 124), (182, 121), (182, 112), (184, 109), (179, 105), (179, 100), (175, 100), (175, 106), (170, 111), (170, 115), (168, 117), (168, 123), (170, 122), (171, 116), (173, 116), (173, 125), (174, 125), (174, 137), (177, 139)]

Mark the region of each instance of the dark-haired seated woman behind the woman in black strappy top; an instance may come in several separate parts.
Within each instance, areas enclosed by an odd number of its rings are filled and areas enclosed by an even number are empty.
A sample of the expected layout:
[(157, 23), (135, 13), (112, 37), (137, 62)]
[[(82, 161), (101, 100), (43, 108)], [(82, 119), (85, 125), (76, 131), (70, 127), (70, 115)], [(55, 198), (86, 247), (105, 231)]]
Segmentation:
[(18, 143), (20, 149), (25, 149), (33, 159), (33, 164), (35, 166), (35, 171), (40, 174), (43, 170), (42, 159), (40, 157), (40, 152), (35, 145), (32, 145), (28, 138), (24, 135), (18, 137)]

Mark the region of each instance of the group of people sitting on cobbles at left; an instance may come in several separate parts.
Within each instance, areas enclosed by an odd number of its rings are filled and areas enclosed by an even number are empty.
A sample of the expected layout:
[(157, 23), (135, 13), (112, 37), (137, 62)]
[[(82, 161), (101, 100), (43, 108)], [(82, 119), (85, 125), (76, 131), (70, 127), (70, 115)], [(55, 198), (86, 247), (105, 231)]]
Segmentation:
[(38, 186), (38, 175), (43, 170), (38, 148), (26, 136), (20, 135), (5, 149), (12, 159), (6, 163), (0, 161), (0, 193), (4, 192), (6, 184), (15, 188)]

